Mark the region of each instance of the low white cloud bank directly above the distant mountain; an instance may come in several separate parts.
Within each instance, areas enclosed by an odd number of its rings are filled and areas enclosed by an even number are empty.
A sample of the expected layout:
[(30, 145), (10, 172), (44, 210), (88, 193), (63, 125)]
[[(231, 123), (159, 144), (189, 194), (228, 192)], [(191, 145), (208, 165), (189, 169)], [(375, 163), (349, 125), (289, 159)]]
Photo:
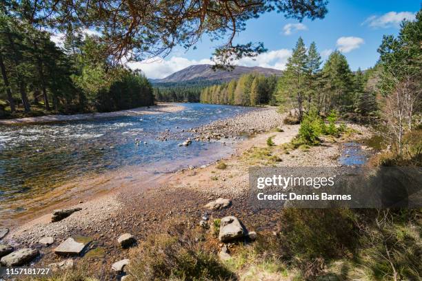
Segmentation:
[[(237, 65), (270, 67), (277, 70), (283, 70), (288, 57), (292, 54), (291, 50), (281, 49), (273, 50), (259, 54), (254, 58), (243, 58), (237, 62)], [(181, 56), (172, 56), (170, 59), (148, 59), (145, 61), (128, 63), (132, 70), (142, 70), (150, 79), (162, 79), (170, 74), (183, 70), (190, 65), (212, 64), (210, 59), (190, 60)]]

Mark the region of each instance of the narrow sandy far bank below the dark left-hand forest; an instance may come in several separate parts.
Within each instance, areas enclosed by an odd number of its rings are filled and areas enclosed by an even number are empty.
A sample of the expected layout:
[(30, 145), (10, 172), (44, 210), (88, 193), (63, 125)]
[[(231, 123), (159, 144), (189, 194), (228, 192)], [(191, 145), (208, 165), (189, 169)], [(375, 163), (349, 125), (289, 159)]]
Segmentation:
[(120, 110), (117, 112), (101, 112), (101, 113), (86, 113), (86, 114), (72, 114), (72, 115), (46, 115), (37, 117), (15, 118), (15, 119), (1, 119), (0, 125), (22, 125), (33, 123), (54, 123), (67, 121), (81, 121), (92, 120), (100, 118), (114, 118), (119, 116), (137, 116), (143, 114), (162, 114), (170, 112), (179, 112), (184, 107), (172, 103), (158, 103), (153, 106), (137, 107), (131, 110)]

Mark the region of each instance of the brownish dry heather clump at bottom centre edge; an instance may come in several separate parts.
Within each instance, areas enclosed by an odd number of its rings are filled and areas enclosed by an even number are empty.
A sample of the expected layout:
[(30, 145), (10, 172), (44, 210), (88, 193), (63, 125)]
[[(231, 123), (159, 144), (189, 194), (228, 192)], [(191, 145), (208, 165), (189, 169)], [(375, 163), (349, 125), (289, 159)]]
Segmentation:
[(130, 251), (130, 280), (235, 280), (207, 247), (205, 233), (184, 222), (148, 237)]

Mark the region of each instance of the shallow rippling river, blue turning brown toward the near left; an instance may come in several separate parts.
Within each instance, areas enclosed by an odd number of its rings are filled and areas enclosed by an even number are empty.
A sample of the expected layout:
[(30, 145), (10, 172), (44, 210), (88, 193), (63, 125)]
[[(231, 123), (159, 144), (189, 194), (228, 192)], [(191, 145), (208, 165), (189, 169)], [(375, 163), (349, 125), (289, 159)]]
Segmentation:
[[(179, 147), (190, 136), (182, 131), (252, 110), (229, 105), (181, 105), (185, 110), (175, 113), (0, 126), (0, 217), (26, 211), (26, 198), (47, 194), (87, 174), (128, 166), (139, 171), (148, 167), (158, 174), (228, 156), (236, 142), (233, 139), (224, 140), (227, 144), (194, 141), (189, 147)], [(165, 130), (178, 137), (159, 141), (157, 136)]]

